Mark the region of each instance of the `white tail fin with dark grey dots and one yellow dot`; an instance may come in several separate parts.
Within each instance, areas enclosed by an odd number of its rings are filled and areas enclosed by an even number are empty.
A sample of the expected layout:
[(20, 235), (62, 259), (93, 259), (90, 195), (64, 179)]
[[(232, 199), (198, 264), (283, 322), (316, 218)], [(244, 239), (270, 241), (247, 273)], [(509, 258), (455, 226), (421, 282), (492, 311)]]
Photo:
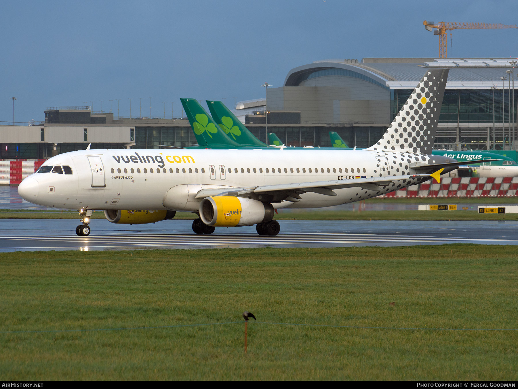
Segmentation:
[(367, 150), (431, 154), (448, 72), (427, 70), (383, 137)]

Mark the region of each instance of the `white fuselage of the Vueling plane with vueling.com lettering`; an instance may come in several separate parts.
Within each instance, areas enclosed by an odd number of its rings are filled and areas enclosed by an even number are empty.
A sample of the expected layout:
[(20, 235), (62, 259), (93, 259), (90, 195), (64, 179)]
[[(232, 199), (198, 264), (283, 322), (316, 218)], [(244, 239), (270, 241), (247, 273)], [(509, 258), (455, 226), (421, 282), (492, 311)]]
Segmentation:
[[(94, 166), (94, 160), (100, 163)], [(207, 187), (257, 187), (399, 176), (415, 174), (409, 165), (418, 160), (428, 163), (429, 156), (367, 150), (337, 153), (325, 150), (93, 149), (50, 158), (44, 166), (69, 166), (73, 174), (35, 173), (24, 179), (19, 192), (27, 201), (57, 208), (175, 210), (164, 206), (164, 196), (178, 185), (195, 184), (192, 191)], [(353, 187), (335, 190), (338, 196), (303, 193), (300, 202), (283, 201), (274, 206), (332, 206), (376, 197), (416, 182), (416, 179), (400, 181), (381, 192)], [(194, 200), (193, 196), (190, 199)], [(186, 209), (176, 209), (181, 210)]]

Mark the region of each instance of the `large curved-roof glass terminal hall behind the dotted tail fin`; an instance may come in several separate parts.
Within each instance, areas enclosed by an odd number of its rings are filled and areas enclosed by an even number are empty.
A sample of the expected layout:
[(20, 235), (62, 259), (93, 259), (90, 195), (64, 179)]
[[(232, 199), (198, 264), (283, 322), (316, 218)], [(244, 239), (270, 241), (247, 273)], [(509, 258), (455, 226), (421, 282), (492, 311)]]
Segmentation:
[[(268, 123), (272, 123), (271, 129), (286, 144), (308, 145), (316, 138), (315, 144), (327, 146), (327, 131), (337, 131), (349, 145), (366, 147), (381, 138), (427, 69), (449, 68), (436, 148), (502, 149), (503, 137), (508, 148), (515, 123), (509, 115), (513, 92), (514, 106), (518, 103), (506, 72), (513, 70), (509, 61), (509, 58), (315, 61), (290, 70), (281, 87), (268, 88)], [(507, 78), (503, 91), (501, 77)], [(236, 107), (241, 114), (236, 115), (245, 117), (247, 126), (256, 126), (259, 121), (265, 121), (264, 108), (265, 99), (242, 101)], [(505, 112), (505, 132), (502, 112)], [(279, 119), (288, 118), (288, 114), (290, 118), (298, 115), (298, 126), (292, 122), (291, 126), (279, 128)]]

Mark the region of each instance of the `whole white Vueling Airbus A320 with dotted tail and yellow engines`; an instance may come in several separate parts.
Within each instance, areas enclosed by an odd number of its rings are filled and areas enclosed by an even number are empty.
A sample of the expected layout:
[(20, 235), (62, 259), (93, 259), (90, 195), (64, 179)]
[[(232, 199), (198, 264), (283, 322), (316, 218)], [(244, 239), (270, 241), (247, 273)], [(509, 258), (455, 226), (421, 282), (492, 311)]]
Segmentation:
[(427, 71), (383, 138), (361, 151), (87, 149), (48, 159), (18, 192), (35, 204), (78, 209), (83, 236), (92, 210), (126, 224), (189, 211), (199, 215), (197, 234), (256, 225), (261, 235), (277, 235), (277, 208), (354, 202), (455, 169), (454, 159), (429, 155), (447, 77), (447, 69)]

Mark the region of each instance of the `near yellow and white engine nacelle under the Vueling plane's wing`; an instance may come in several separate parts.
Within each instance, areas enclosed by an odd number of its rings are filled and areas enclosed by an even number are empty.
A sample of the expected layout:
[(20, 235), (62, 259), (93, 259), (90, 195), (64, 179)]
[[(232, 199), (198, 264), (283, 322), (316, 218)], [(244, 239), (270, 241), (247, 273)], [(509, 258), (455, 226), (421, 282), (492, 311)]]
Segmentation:
[(199, 204), (199, 217), (207, 226), (251, 226), (273, 219), (274, 207), (242, 197), (212, 196)]

